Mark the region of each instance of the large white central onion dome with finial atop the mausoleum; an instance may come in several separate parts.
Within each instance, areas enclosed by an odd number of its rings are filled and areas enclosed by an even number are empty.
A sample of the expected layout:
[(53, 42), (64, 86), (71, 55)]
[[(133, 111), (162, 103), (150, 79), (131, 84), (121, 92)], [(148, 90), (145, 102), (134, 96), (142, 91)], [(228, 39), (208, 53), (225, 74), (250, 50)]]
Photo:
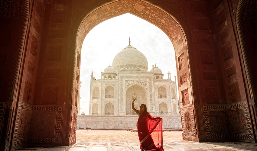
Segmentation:
[[(129, 41), (130, 42), (130, 41)], [(136, 48), (129, 46), (119, 52), (112, 61), (112, 66), (119, 71), (136, 70), (147, 71), (148, 62), (143, 53)]]

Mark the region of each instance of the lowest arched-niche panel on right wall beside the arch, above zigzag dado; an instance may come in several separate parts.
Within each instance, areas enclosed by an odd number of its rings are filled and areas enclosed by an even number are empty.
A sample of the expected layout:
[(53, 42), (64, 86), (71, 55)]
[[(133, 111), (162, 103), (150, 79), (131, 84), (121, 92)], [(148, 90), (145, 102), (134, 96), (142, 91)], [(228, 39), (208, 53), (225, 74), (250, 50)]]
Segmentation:
[(218, 87), (205, 87), (206, 100), (208, 103), (219, 103), (219, 89)]

